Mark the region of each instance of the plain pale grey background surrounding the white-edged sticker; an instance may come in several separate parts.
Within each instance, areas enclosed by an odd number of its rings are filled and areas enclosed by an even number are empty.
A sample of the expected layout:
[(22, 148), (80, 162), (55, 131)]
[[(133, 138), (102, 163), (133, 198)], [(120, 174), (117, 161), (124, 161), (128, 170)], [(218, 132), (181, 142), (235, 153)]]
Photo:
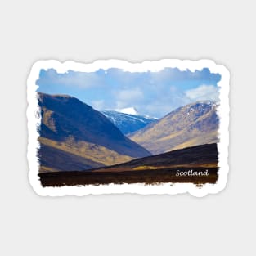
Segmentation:
[[(254, 255), (254, 1), (2, 1), (2, 255)], [(230, 173), (218, 195), (40, 197), (26, 79), (40, 59), (210, 58), (231, 71)], [(254, 124), (253, 124), (254, 122)]]

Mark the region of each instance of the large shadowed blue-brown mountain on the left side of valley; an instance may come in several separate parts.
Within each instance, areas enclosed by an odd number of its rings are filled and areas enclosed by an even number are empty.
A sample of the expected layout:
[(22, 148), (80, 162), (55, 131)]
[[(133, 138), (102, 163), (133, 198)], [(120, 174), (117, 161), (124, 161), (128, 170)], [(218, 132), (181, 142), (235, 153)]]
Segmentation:
[(97, 168), (150, 155), (78, 99), (38, 93), (41, 172)]

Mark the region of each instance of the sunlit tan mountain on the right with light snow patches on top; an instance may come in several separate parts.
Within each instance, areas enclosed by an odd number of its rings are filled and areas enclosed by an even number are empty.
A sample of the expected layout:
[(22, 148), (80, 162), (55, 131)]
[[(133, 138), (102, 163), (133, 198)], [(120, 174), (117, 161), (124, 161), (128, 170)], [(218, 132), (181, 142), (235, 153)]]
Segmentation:
[(213, 101), (197, 101), (173, 110), (128, 137), (152, 154), (218, 142), (218, 115)]

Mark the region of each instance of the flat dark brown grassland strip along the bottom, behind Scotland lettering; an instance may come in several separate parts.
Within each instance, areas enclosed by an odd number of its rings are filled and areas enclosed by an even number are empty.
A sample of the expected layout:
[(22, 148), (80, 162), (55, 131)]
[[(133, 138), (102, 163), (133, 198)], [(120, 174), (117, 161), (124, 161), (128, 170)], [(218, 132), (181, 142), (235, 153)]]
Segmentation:
[[(145, 183), (157, 185), (161, 183), (194, 183), (203, 185), (216, 183), (218, 168), (207, 168), (209, 176), (180, 177), (176, 171), (187, 171), (188, 168), (158, 170), (126, 171), (126, 172), (61, 172), (40, 173), (42, 186), (79, 186), (79, 185), (104, 185), (104, 184), (132, 184)], [(205, 168), (196, 168), (196, 171), (205, 171)]]

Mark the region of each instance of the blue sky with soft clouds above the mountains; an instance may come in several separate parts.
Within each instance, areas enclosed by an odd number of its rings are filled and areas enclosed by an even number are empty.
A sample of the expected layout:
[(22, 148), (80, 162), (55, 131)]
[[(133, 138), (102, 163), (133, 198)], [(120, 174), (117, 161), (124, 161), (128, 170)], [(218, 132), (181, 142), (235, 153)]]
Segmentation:
[(86, 73), (41, 70), (38, 92), (67, 94), (96, 110), (134, 107), (141, 115), (160, 118), (186, 104), (218, 101), (220, 74), (165, 68), (158, 72), (128, 72), (117, 68)]

